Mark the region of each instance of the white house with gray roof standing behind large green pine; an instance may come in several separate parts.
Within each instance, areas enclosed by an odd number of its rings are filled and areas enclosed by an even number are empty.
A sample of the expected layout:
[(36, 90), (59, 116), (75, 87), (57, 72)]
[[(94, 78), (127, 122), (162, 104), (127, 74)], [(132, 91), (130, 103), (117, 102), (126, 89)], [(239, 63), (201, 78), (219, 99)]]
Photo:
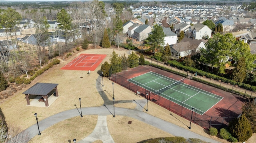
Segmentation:
[(163, 31), (165, 34), (164, 37), (164, 46), (172, 45), (177, 43), (177, 34), (173, 33), (172, 30), (169, 27), (163, 27)]

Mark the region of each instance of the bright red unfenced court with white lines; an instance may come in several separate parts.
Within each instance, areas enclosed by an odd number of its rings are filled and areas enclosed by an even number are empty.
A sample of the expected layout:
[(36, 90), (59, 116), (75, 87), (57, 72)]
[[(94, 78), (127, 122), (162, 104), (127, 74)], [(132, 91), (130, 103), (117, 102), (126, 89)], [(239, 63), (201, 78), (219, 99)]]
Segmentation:
[(94, 71), (106, 55), (99, 54), (80, 54), (75, 59), (70, 61), (62, 70), (80, 70), (80, 71)]

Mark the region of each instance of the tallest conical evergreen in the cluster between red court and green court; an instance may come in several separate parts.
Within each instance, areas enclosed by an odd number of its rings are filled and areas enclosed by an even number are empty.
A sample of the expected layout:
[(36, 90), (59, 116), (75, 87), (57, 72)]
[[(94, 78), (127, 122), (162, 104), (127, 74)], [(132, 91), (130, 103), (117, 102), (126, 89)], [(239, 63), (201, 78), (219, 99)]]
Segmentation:
[(110, 55), (110, 74), (122, 71), (122, 60), (118, 57), (118, 54), (113, 50)]

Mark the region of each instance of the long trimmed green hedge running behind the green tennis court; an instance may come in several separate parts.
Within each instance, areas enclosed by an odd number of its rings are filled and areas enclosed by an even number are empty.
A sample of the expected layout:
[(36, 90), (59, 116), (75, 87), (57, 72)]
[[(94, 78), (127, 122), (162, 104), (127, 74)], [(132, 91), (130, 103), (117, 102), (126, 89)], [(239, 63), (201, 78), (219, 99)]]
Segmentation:
[(198, 69), (195, 69), (193, 67), (187, 67), (187, 66), (182, 65), (181, 63), (178, 63), (177, 61), (168, 61), (168, 64), (170, 66), (176, 67), (180, 70), (190, 71), (192, 73), (197, 73), (200, 76), (206, 76), (207, 78), (212, 78), (214, 80), (221, 80), (222, 82), (225, 82), (225, 83), (230, 83), (232, 85), (238, 85), (239, 87), (244, 88), (244, 89), (249, 89), (251, 91), (256, 91), (256, 86), (253, 86), (253, 85), (250, 85), (250, 84), (244, 84), (244, 83), (241, 83), (241, 82), (236, 82), (234, 80), (230, 80), (230, 79), (227, 79), (227, 78), (215, 75), (215, 74), (211, 74), (211, 73), (208, 73), (208, 72), (205, 72), (205, 71), (202, 71), (202, 70), (198, 70)]

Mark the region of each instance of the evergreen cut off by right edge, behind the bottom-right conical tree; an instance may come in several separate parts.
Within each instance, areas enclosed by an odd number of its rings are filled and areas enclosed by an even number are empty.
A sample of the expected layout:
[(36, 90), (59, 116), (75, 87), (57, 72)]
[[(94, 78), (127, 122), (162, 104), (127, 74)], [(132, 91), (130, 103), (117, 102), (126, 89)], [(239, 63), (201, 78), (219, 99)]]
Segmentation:
[(246, 116), (251, 124), (252, 132), (256, 133), (256, 104), (254, 103), (254, 100), (252, 102), (246, 102), (242, 107), (242, 110), (243, 114)]

